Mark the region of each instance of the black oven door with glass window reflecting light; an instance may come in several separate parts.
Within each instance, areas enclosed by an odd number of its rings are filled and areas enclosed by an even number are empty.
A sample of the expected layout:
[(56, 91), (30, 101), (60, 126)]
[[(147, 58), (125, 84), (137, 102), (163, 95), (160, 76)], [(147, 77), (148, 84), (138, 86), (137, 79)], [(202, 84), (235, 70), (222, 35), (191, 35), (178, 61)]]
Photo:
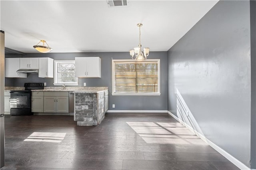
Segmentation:
[(11, 109), (31, 109), (31, 91), (10, 91)]

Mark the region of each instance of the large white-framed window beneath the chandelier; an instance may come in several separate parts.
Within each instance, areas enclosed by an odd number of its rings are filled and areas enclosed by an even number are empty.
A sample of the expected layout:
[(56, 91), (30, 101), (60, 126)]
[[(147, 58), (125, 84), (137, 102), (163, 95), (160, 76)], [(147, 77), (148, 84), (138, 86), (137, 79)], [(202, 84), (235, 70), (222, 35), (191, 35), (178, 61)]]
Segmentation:
[(160, 59), (113, 59), (112, 95), (160, 95)]

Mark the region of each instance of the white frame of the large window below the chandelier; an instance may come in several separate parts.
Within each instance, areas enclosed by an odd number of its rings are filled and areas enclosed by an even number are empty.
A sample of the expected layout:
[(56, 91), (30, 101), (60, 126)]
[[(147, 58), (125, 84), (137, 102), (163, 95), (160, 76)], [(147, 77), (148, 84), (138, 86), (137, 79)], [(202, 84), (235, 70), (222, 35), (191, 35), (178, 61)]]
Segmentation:
[[(114, 63), (115, 62), (134, 62), (134, 63), (140, 63), (140, 62), (146, 62), (146, 61), (156, 61), (158, 62), (158, 92), (157, 93), (115, 93), (114, 92), (114, 76), (115, 76), (115, 67), (114, 67)], [(156, 96), (156, 95), (161, 95), (160, 93), (160, 59), (147, 59), (146, 61), (142, 60), (142, 61), (137, 61), (137, 60), (133, 60), (133, 59), (112, 59), (112, 95), (113, 96)]]

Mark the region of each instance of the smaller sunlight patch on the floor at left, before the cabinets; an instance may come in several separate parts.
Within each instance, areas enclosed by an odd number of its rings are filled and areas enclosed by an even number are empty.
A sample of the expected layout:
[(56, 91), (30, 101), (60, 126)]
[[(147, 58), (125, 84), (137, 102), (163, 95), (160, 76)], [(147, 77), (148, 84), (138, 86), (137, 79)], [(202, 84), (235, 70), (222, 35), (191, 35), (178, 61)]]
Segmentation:
[(60, 143), (65, 136), (66, 136), (66, 133), (33, 132), (24, 141)]

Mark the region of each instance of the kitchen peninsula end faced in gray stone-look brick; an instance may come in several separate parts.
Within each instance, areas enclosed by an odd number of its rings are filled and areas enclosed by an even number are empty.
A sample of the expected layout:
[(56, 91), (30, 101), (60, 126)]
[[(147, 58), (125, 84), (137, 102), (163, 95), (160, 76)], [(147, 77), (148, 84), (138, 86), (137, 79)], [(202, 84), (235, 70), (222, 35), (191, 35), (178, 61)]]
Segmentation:
[(74, 94), (74, 121), (77, 121), (77, 125), (99, 125), (107, 110), (105, 106), (108, 106), (108, 90), (74, 91)]

